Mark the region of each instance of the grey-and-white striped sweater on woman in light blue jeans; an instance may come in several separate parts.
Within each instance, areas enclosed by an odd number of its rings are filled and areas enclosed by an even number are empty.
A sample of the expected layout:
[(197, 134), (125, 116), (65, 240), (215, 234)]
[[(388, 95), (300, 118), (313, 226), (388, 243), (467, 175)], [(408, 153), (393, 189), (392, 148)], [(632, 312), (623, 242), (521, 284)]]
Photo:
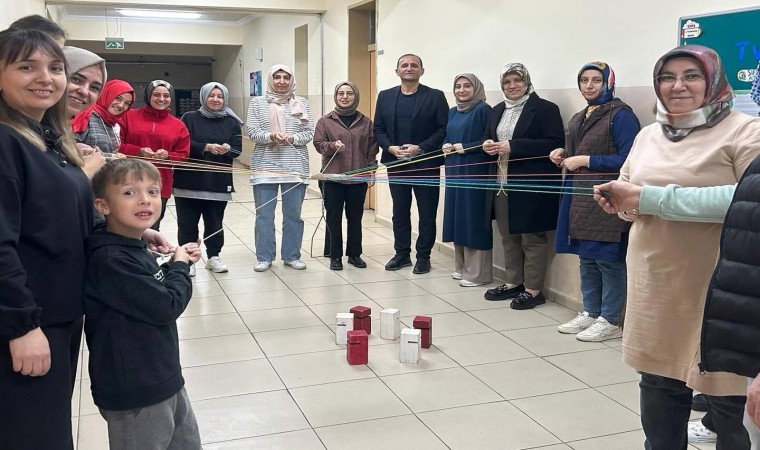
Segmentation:
[[(266, 97), (254, 97), (248, 105), (246, 126), (248, 136), (254, 144), (251, 156), (251, 184), (264, 183), (308, 183), (309, 180), (296, 175), (308, 176), (309, 152), (306, 144), (314, 137), (314, 119), (311, 116), (309, 102), (303, 97), (296, 97), (304, 104), (308, 122), (290, 115), (290, 106), (285, 104), (285, 132), (293, 136), (293, 146), (276, 145), (271, 140), (269, 124), (269, 102)], [(295, 147), (295, 148), (293, 148)]]

